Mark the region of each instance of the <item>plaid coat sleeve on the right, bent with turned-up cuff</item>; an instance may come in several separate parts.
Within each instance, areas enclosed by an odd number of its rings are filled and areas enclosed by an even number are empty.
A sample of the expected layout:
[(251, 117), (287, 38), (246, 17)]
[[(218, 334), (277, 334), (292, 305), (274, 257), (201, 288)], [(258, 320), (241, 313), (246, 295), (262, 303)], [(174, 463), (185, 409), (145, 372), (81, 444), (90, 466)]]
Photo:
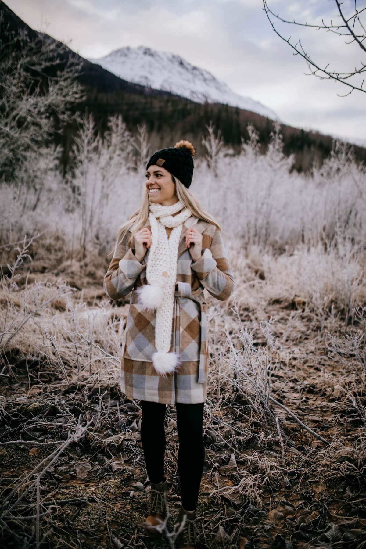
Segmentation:
[(216, 227), (210, 248), (202, 248), (200, 259), (191, 268), (206, 290), (220, 301), (225, 301), (234, 291), (234, 276), (229, 265), (221, 231)]

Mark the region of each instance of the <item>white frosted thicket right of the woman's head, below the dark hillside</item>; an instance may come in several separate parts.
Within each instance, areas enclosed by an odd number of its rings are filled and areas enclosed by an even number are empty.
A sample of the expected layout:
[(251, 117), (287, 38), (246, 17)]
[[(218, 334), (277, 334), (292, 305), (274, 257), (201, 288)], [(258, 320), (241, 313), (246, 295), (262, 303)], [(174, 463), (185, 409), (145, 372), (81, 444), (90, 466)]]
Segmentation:
[(355, 244), (364, 242), (366, 170), (357, 166), (349, 145), (336, 142), (323, 168), (308, 175), (290, 173), (293, 158), (283, 154), (278, 125), (266, 154), (258, 154), (252, 127), (242, 149), (237, 156), (224, 154), (216, 175), (197, 162), (192, 190), (246, 247), (290, 252), (298, 243), (312, 247), (334, 237), (337, 223)]

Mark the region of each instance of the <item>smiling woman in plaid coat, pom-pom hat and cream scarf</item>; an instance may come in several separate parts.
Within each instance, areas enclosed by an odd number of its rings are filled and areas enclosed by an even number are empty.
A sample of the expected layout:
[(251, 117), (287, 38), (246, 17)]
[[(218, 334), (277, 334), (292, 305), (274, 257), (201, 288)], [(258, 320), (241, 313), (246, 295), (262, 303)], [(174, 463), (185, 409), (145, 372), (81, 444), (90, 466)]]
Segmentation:
[[(166, 405), (175, 405), (182, 501), (178, 547), (195, 547), (196, 503), (204, 466), (202, 418), (207, 392), (204, 288), (218, 300), (234, 289), (218, 223), (188, 191), (192, 143), (154, 153), (140, 208), (122, 225), (104, 289), (111, 299), (132, 290), (122, 344), (121, 389), (142, 407), (140, 426), (151, 484), (149, 536), (166, 518)], [(185, 519), (185, 520), (183, 520)], [(160, 528), (159, 528), (160, 525)]]

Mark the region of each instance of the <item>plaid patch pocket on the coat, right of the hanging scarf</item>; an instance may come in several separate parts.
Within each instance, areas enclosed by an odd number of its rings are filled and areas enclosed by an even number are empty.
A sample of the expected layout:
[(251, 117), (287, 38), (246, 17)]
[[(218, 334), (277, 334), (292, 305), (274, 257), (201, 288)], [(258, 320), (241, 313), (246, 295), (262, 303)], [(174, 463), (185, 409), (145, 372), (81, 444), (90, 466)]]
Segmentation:
[(190, 298), (177, 298), (179, 303), (180, 360), (196, 361), (200, 358), (201, 324), (200, 306)]

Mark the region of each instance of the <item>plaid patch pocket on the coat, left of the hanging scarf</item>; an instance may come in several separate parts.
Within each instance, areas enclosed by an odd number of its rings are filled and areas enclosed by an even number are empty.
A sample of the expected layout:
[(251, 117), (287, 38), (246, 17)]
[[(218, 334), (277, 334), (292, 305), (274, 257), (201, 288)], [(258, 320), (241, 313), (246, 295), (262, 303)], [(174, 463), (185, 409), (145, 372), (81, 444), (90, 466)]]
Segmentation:
[(144, 309), (135, 303), (131, 295), (126, 324), (126, 344), (124, 355), (131, 360), (151, 362), (155, 348), (155, 311)]

